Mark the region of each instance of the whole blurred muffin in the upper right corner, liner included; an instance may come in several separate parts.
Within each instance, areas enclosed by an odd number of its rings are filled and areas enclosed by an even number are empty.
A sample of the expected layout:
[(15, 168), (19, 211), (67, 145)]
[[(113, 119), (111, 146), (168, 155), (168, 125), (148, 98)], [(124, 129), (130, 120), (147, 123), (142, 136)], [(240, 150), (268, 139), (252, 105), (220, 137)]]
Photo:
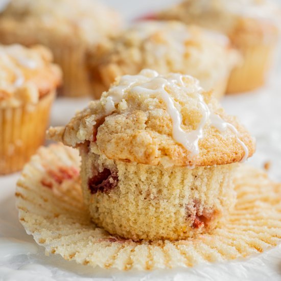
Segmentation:
[(243, 55), (227, 92), (253, 90), (265, 83), (278, 40), (280, 7), (270, 0), (185, 0), (156, 16), (178, 19), (226, 34)]

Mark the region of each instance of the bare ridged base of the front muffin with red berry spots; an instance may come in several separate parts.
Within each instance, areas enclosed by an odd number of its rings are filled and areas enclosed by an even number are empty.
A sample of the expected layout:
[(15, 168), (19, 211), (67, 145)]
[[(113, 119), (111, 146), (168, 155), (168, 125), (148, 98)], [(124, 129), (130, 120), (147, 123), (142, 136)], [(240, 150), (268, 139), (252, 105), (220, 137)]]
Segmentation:
[(81, 147), (85, 204), (112, 235), (178, 240), (214, 229), (235, 205), (237, 163), (163, 168), (109, 160)]

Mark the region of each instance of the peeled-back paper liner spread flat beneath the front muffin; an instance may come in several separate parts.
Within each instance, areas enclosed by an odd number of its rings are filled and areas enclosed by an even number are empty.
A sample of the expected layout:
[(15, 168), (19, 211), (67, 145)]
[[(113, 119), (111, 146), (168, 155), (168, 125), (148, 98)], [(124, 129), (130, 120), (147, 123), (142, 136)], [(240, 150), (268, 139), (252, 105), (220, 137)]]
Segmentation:
[(96, 227), (83, 205), (78, 151), (40, 148), (17, 183), (19, 220), (45, 247), (79, 264), (121, 270), (191, 267), (261, 253), (281, 241), (281, 184), (241, 166), (238, 201), (226, 223), (210, 234), (180, 241), (140, 241), (111, 236)]

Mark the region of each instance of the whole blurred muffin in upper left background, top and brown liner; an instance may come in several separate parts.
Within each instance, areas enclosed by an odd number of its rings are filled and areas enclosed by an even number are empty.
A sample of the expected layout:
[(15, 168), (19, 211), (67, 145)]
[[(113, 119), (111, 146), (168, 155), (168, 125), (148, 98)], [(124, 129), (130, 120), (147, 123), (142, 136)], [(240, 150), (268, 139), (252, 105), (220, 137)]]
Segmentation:
[(120, 16), (95, 0), (11, 0), (0, 14), (0, 42), (48, 46), (63, 71), (60, 92), (85, 96), (87, 48), (120, 27)]

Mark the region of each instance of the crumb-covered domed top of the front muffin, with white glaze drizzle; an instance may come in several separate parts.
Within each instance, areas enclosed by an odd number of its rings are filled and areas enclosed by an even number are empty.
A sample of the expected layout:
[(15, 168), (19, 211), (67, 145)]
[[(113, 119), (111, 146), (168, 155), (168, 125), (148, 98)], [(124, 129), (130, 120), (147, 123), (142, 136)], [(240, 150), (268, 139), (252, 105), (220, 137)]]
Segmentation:
[(150, 69), (118, 78), (68, 125), (50, 128), (49, 137), (73, 147), (87, 144), (109, 159), (163, 166), (238, 162), (255, 146), (198, 80)]

